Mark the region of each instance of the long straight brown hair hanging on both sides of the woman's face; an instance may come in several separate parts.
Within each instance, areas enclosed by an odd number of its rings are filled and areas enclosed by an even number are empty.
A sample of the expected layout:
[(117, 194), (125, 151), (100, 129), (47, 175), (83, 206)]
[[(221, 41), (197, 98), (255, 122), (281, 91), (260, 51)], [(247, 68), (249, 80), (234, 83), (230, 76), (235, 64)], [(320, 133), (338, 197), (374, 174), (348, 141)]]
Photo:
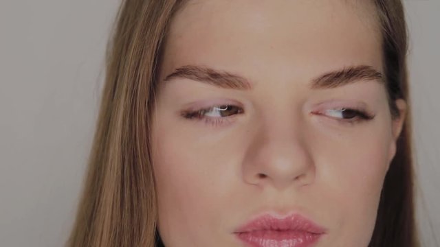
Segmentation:
[[(407, 30), (400, 0), (373, 0), (393, 117), (409, 102)], [(164, 39), (179, 0), (124, 0), (107, 47), (94, 143), (69, 247), (154, 247), (157, 205), (149, 120)], [(384, 180), (370, 247), (416, 247), (410, 108)]]

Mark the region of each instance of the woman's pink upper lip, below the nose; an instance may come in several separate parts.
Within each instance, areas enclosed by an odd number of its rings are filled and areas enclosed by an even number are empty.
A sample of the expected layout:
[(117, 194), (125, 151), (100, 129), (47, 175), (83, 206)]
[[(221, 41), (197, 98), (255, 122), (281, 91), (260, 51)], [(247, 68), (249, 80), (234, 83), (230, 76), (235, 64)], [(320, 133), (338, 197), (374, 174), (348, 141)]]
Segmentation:
[(305, 231), (314, 234), (325, 233), (325, 228), (298, 213), (278, 217), (266, 213), (255, 217), (239, 227), (234, 233), (250, 233), (252, 231)]

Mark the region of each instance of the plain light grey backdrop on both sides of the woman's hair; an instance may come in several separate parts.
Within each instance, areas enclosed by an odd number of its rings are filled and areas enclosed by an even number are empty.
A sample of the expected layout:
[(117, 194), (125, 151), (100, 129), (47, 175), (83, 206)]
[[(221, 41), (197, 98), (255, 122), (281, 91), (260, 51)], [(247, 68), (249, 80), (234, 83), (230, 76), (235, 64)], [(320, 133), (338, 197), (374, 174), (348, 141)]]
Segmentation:
[[(0, 246), (63, 246), (118, 0), (0, 1)], [(405, 0), (423, 246), (440, 236), (440, 0)]]

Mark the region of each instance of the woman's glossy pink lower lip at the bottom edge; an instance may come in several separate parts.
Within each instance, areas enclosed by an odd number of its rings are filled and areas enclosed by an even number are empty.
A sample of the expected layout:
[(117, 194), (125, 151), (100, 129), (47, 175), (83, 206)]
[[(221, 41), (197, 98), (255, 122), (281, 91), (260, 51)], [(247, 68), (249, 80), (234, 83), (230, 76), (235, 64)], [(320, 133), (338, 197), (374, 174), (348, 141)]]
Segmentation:
[(241, 241), (252, 247), (311, 247), (321, 234), (306, 231), (252, 231), (236, 233)]

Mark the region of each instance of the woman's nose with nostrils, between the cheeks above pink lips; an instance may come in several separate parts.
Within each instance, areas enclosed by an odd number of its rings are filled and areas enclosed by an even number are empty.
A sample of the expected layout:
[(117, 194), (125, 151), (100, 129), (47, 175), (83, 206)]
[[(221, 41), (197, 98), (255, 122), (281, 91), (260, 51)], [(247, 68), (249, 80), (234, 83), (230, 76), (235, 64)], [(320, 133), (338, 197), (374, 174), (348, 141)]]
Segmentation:
[(278, 122), (252, 134), (242, 164), (246, 183), (284, 190), (314, 182), (315, 165), (306, 134), (300, 126), (296, 127)]

